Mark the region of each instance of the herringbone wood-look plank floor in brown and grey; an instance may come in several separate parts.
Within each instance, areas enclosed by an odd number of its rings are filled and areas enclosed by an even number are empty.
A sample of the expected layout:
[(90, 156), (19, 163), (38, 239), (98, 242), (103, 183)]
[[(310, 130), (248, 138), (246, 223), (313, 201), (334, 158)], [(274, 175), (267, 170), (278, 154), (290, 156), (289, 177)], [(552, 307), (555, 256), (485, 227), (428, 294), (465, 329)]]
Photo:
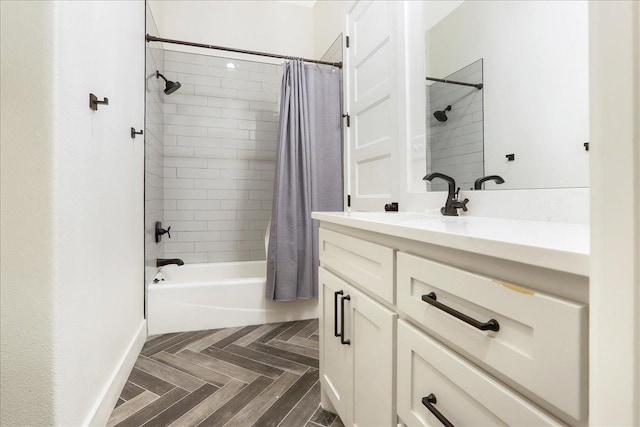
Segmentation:
[(320, 408), (318, 320), (150, 337), (108, 427), (343, 427)]

